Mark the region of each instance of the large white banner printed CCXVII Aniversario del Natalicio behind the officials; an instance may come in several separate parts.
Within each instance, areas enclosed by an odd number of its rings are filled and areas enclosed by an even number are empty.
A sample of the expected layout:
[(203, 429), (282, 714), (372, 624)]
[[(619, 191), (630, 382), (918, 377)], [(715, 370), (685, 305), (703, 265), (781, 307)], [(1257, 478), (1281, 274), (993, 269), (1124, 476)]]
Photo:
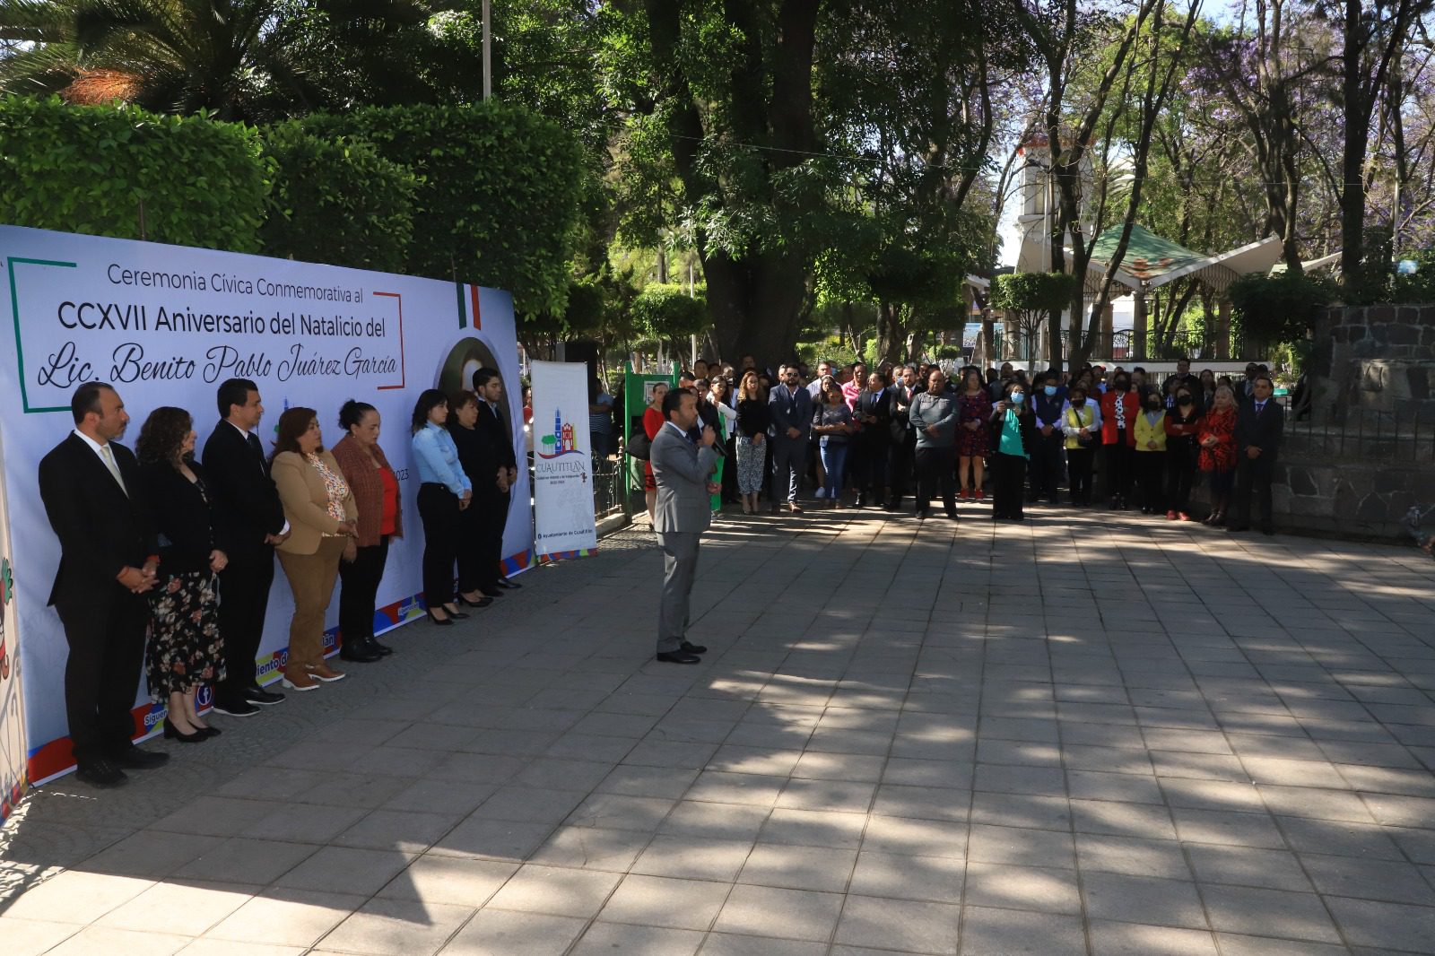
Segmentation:
[[(253, 379), (265, 406), (260, 436), (268, 449), (280, 412), (313, 408), (331, 446), (343, 432), (339, 406), (375, 405), (380, 445), (400, 479), (405, 538), (395, 541), (379, 589), (380, 629), (416, 617), (423, 533), (409, 467), (409, 421), (426, 388), (472, 388), (481, 366), (504, 378), (515, 448), (522, 448), (521, 388), (508, 293), (409, 276), (316, 266), (260, 256), (0, 227), (0, 306), (14, 334), (0, 336), (4, 482), (11, 541), (24, 543), (16, 576), (23, 636), (30, 779), (69, 767), (65, 739), (65, 634), (46, 607), (59, 543), (40, 502), (40, 458), (70, 431), (70, 395), (83, 382), (112, 383), (132, 418), (133, 446), (145, 416), (178, 405), (194, 416), (198, 448), (218, 419), (215, 389)], [(532, 524), (527, 469), (518, 471), (508, 514), (508, 573), (528, 567)], [(277, 679), (293, 599), (276, 574), (260, 680)], [(330, 607), (330, 636), (337, 601)], [(141, 688), (136, 734), (162, 709)]]

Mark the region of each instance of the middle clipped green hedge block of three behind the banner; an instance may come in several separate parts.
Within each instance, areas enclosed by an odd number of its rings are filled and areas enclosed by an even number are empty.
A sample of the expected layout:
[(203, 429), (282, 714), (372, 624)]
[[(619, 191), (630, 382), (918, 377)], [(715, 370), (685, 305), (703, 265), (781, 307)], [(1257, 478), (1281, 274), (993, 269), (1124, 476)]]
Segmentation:
[(367, 142), (321, 139), (296, 122), (264, 131), (274, 189), (260, 235), (265, 256), (403, 271), (418, 181)]

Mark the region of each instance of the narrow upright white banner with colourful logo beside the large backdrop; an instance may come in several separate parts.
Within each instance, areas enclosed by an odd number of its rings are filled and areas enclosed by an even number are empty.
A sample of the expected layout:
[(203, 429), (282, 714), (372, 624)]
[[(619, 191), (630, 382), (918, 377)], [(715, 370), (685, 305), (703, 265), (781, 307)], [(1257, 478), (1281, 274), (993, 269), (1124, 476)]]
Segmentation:
[(534, 551), (540, 558), (591, 554), (593, 448), (588, 366), (534, 362)]

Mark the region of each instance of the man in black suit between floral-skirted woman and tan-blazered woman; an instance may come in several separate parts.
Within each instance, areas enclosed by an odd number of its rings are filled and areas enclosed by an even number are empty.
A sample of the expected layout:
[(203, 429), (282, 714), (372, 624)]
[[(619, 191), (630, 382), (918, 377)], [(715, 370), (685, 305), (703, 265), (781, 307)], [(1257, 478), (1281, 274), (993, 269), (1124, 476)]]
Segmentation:
[(204, 444), (204, 471), (214, 494), (215, 522), (230, 543), (230, 564), (220, 576), (220, 633), (224, 680), (214, 689), (214, 709), (254, 716), (284, 699), (258, 685), (254, 659), (264, 634), (274, 545), (288, 537), (284, 507), (270, 478), (264, 444), (254, 431), (264, 416), (260, 389), (248, 379), (228, 379), (218, 392), (220, 423)]

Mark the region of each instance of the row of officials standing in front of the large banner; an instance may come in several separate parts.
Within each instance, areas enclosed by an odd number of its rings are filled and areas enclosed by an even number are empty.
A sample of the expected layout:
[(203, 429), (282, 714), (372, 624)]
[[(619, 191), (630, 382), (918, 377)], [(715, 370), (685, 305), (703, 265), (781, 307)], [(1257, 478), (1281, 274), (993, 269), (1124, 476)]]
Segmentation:
[[(428, 390), (413, 411), (410, 446), (425, 481), (425, 600), (435, 620), (462, 617), (456, 601), (481, 607), (518, 587), (498, 573), (515, 477), (501, 393), (497, 370), (481, 369), (474, 392), (446, 399)], [(346, 402), (339, 415), (346, 434), (330, 451), (314, 409), (288, 408), (265, 456), (258, 386), (230, 379), (217, 405), (220, 422), (201, 459), (192, 418), (179, 408), (155, 409), (131, 452), (119, 444), (129, 423), (123, 400), (112, 386), (90, 382), (72, 398), (75, 429), (40, 461), (40, 497), (60, 541), (50, 604), (69, 646), (66, 719), (77, 777), (98, 787), (123, 784), (125, 769), (168, 759), (132, 744), (141, 667), (151, 698), (168, 706), (165, 736), (184, 742), (220, 734), (195, 709), (199, 686), (212, 686), (214, 709), (231, 716), (284, 700), (260, 686), (257, 670), (276, 556), (294, 593), (284, 688), (314, 690), (344, 678), (323, 649), (340, 577), (342, 656), (375, 662), (390, 653), (375, 637), (375, 606), (403, 515), (399, 477), (379, 446), (377, 409)], [(474, 454), (464, 462), (455, 456), (455, 465), (476, 462), (486, 471), (466, 478), (478, 494), (469, 491), (462, 508), (458, 495), (453, 508), (433, 504), (422, 436), (435, 422), (448, 425), (451, 411), (461, 412), (452, 416), (456, 428), (466, 422), (474, 431), (466, 441)], [(472, 517), (455, 521), (461, 510)], [(438, 564), (445, 557), (446, 589)], [(453, 587), (455, 563), (468, 589), (462, 594)]]

